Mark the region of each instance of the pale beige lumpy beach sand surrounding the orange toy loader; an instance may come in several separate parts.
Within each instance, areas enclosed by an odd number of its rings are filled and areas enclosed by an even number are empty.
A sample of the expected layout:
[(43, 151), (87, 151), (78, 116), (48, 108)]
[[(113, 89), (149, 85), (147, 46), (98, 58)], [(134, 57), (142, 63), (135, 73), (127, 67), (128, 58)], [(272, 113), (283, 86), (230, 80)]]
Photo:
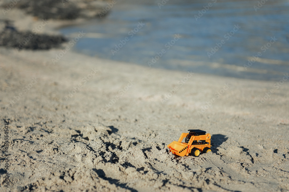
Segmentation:
[[(72, 50), (53, 62), (62, 50), (0, 48), (0, 191), (289, 191), (288, 71), (245, 80)], [(210, 133), (212, 153), (170, 153), (188, 129)]]

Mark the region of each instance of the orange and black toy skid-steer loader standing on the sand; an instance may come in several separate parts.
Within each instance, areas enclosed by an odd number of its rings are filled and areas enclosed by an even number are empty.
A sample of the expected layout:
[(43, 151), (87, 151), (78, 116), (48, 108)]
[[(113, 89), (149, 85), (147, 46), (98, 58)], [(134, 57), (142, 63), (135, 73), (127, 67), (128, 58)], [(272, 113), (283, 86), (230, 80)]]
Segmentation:
[[(211, 135), (199, 129), (189, 129), (189, 133), (182, 133), (178, 141), (173, 141), (168, 145), (175, 155), (184, 157), (189, 154), (198, 157), (200, 153), (211, 151)], [(182, 140), (185, 138), (185, 142)]]

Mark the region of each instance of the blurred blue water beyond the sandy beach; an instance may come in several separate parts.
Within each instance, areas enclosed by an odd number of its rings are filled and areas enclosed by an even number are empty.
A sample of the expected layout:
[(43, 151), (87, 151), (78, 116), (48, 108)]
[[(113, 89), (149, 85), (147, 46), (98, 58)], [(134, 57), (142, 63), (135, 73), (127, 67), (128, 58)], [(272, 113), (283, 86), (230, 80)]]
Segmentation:
[[(289, 72), (289, 0), (263, 0), (256, 11), (258, 1), (169, 0), (159, 7), (161, 2), (165, 1), (117, 0), (105, 18), (60, 31), (69, 37), (87, 33), (73, 47), (77, 52), (147, 67), (259, 80), (279, 80)], [(132, 36), (129, 31), (137, 26)], [(180, 38), (174, 42), (175, 34)], [(209, 58), (208, 52), (214, 54)], [(244, 65), (258, 52), (261, 55), (246, 70)], [(158, 60), (153, 63), (152, 57)]]

